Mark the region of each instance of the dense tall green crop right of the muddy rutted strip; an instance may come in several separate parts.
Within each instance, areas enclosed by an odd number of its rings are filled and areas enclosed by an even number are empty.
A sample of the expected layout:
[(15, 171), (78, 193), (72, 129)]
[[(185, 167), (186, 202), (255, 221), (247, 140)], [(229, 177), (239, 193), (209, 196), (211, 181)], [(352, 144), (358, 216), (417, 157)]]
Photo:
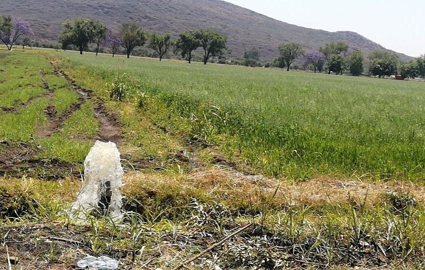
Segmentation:
[(192, 135), (202, 143), (220, 145), (230, 158), (275, 177), (425, 177), (423, 82), (73, 52), (59, 56), (106, 81), (130, 74), (137, 91), (160, 96), (187, 119), (195, 114)]

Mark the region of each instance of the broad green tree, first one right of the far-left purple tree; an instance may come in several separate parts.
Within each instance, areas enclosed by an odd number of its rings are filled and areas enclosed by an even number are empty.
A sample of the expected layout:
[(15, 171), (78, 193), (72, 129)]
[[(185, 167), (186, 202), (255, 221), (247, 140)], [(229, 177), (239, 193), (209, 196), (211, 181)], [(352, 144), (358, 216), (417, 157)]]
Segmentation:
[(82, 55), (87, 46), (95, 41), (98, 24), (99, 22), (93, 19), (76, 18), (73, 22), (66, 20), (63, 23), (64, 30), (59, 38), (62, 48), (65, 49), (68, 45), (74, 45)]

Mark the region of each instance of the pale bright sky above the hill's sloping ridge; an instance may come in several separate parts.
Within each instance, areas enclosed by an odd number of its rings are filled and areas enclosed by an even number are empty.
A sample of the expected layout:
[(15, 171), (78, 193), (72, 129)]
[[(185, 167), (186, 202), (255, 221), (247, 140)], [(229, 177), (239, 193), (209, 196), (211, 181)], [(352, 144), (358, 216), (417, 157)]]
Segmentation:
[(354, 31), (387, 49), (425, 53), (425, 0), (226, 0), (297, 26)]

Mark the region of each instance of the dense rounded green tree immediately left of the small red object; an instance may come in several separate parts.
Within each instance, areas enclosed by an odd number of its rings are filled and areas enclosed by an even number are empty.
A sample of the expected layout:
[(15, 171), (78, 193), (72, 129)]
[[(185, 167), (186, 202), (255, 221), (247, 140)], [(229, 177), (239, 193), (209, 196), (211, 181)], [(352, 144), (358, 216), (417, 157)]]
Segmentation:
[(397, 71), (398, 56), (387, 51), (373, 51), (369, 54), (369, 71), (373, 76), (384, 78)]

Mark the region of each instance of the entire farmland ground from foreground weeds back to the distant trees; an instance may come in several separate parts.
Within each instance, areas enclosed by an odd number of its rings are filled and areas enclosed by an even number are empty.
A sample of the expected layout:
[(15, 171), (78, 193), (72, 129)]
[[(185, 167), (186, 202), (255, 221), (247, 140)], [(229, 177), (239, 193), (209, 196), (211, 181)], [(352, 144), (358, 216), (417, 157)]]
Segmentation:
[[(424, 104), (417, 81), (0, 50), (0, 268), (423, 268)], [(95, 140), (121, 224), (66, 214)]]

